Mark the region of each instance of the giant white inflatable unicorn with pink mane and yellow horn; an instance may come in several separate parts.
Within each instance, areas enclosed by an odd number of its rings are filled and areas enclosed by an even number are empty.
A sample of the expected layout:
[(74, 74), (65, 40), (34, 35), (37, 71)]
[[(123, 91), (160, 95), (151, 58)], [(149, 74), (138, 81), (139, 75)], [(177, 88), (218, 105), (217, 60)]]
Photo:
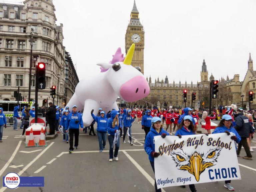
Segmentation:
[(76, 86), (75, 93), (68, 102), (70, 108), (77, 106), (77, 110), (84, 109), (83, 122), (89, 126), (98, 109), (108, 112), (115, 108), (118, 110), (116, 99), (120, 97), (124, 101), (134, 102), (146, 97), (149, 85), (139, 67), (131, 66), (135, 44), (132, 44), (126, 57), (123, 57), (121, 48), (118, 48), (110, 63), (99, 63), (101, 72), (91, 74), (92, 77), (83, 78)]

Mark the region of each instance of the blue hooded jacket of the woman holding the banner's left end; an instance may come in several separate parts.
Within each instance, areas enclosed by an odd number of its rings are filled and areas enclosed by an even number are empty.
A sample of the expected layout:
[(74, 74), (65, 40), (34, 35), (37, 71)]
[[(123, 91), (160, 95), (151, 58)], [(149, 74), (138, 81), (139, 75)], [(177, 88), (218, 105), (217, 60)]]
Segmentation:
[(146, 136), (144, 149), (145, 149), (146, 153), (148, 154), (149, 161), (154, 162), (154, 157), (151, 156), (151, 152), (155, 151), (154, 136), (162, 135), (162, 133), (169, 135), (169, 133), (167, 133), (163, 128), (161, 129), (160, 133), (157, 133), (157, 131), (153, 127), (151, 127), (150, 131), (148, 132), (148, 134)]

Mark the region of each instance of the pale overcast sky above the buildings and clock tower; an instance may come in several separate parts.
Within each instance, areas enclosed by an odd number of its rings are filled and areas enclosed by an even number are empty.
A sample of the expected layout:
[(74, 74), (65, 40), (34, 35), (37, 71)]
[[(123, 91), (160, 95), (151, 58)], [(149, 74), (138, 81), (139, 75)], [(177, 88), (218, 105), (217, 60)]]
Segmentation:
[[(54, 0), (64, 46), (82, 79), (99, 72), (118, 47), (125, 55), (125, 33), (133, 0)], [(209, 77), (243, 81), (251, 52), (256, 59), (255, 0), (136, 0), (145, 30), (144, 76), (152, 81), (200, 82), (205, 59)]]

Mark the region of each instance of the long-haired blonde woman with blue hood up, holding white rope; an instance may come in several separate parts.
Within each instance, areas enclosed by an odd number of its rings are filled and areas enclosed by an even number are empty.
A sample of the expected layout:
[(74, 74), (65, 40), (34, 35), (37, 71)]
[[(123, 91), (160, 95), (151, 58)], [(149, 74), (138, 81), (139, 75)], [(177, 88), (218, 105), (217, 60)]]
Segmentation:
[[(108, 142), (109, 142), (109, 161), (113, 161), (113, 143), (115, 139), (115, 133), (119, 129), (119, 120), (118, 120), (119, 113), (116, 110), (111, 111), (111, 117), (108, 119), (107, 123), (107, 130), (108, 130)], [(119, 150), (119, 135), (117, 136), (117, 142), (115, 143), (115, 152), (114, 152), (114, 160), (118, 161), (118, 150)]]

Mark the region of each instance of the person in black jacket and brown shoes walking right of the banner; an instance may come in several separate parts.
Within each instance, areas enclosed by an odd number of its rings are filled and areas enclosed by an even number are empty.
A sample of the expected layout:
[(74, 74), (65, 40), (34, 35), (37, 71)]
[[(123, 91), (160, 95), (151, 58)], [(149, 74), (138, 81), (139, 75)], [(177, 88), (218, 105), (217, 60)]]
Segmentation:
[(252, 154), (250, 152), (250, 148), (247, 143), (247, 138), (249, 138), (250, 133), (253, 133), (252, 125), (248, 119), (248, 117), (244, 116), (243, 110), (237, 109), (237, 114), (235, 115), (236, 118), (236, 125), (235, 129), (237, 133), (241, 137), (241, 141), (238, 144), (238, 148), (236, 151), (237, 156), (239, 156), (242, 146), (246, 152), (246, 156), (243, 159), (252, 160)]

